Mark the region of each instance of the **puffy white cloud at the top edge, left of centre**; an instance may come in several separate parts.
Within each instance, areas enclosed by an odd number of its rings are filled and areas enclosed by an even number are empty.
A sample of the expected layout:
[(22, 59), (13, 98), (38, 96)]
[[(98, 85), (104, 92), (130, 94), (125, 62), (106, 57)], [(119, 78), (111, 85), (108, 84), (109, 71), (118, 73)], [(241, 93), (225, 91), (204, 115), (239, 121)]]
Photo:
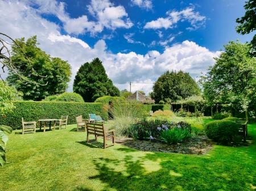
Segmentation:
[(95, 35), (102, 32), (104, 28), (131, 28), (133, 23), (128, 18), (128, 14), (123, 6), (114, 6), (109, 0), (92, 0), (88, 5), (90, 14), (96, 19), (88, 20), (87, 15), (79, 18), (70, 18), (65, 11), (65, 3), (56, 0), (25, 0), (28, 5), (37, 5), (38, 13), (52, 14), (57, 16), (63, 22), (66, 32), (69, 34), (79, 35), (90, 32)]

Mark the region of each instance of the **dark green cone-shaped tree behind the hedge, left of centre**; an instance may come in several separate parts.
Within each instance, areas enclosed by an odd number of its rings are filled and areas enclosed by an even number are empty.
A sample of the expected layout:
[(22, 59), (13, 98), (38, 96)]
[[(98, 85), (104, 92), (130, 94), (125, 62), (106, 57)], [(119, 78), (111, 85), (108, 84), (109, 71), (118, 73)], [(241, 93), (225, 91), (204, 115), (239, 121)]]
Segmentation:
[(118, 88), (106, 75), (99, 58), (94, 58), (92, 62), (86, 62), (80, 67), (74, 80), (73, 91), (88, 102), (106, 95), (119, 96)]

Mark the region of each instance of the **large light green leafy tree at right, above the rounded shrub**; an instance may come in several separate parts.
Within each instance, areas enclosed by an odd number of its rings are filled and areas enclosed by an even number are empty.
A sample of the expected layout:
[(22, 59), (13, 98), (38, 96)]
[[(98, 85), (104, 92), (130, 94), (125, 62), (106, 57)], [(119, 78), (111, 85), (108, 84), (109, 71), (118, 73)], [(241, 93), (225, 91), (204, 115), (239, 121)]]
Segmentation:
[(248, 118), (249, 105), (256, 103), (256, 58), (250, 56), (251, 46), (239, 41), (230, 41), (224, 48), (203, 77), (204, 97), (210, 105), (231, 104)]

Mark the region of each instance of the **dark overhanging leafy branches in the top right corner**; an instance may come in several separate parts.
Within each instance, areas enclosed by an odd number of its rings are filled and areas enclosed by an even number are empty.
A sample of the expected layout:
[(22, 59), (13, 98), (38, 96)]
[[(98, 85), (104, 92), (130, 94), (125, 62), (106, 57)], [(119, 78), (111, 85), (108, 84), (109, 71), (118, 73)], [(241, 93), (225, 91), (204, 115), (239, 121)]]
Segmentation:
[[(237, 19), (237, 32), (242, 35), (249, 34), (256, 29), (256, 1), (248, 0), (245, 2), (245, 15)], [(254, 35), (253, 40), (251, 40), (252, 53), (256, 56), (256, 35)]]

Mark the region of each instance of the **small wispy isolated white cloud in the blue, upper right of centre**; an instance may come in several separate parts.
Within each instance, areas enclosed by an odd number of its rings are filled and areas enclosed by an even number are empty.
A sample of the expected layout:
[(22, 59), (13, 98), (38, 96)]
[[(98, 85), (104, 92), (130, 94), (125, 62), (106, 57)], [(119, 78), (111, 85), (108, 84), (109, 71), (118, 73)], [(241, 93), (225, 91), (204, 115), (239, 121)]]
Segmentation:
[(167, 11), (166, 14), (167, 18), (158, 18), (151, 22), (147, 22), (144, 28), (173, 28), (177, 22), (184, 22), (187, 20), (191, 24), (191, 27), (188, 27), (187, 29), (191, 30), (204, 26), (206, 20), (205, 16), (202, 16), (199, 12), (195, 11), (194, 6), (187, 7), (181, 11)]

